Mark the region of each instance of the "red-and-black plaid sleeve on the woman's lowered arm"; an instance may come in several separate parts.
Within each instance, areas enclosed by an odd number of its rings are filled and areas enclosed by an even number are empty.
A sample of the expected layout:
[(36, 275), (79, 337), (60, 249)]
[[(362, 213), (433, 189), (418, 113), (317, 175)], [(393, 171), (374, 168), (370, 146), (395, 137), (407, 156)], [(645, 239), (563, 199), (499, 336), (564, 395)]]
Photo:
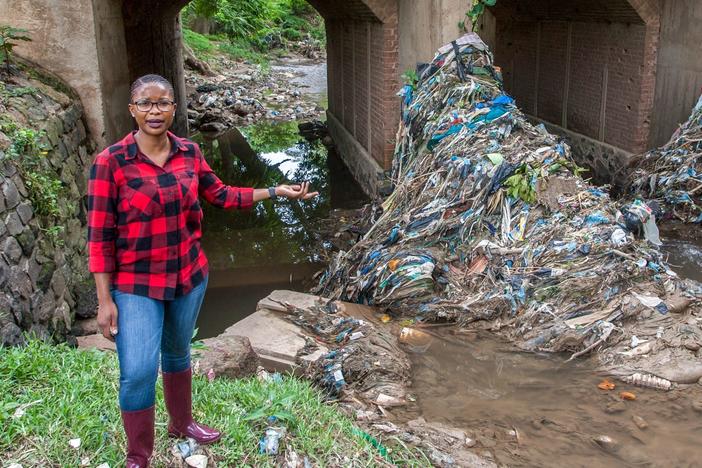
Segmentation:
[(117, 185), (108, 157), (95, 158), (88, 180), (88, 267), (91, 273), (115, 271)]

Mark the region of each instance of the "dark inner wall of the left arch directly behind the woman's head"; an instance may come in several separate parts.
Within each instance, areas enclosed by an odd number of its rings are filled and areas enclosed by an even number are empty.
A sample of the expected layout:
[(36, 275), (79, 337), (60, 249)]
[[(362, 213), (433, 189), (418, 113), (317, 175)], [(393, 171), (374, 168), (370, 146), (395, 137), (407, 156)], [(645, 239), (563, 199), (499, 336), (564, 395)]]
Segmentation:
[(129, 79), (148, 73), (167, 78), (175, 88), (173, 131), (188, 134), (187, 98), (181, 53), (180, 10), (188, 0), (125, 0), (122, 5)]

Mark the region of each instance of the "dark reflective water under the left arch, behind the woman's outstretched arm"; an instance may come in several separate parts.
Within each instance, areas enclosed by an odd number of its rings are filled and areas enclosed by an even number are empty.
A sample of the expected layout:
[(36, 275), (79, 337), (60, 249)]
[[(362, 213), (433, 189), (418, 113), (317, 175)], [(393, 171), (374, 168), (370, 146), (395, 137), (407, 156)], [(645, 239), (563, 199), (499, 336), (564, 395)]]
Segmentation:
[(309, 181), (320, 192), (314, 200), (264, 201), (248, 211), (203, 205), (202, 247), (210, 277), (198, 337), (207, 338), (253, 313), (275, 289), (307, 290), (321, 268), (320, 221), (331, 209), (356, 208), (366, 198), (339, 156), (302, 139), (296, 122), (196, 139), (227, 184), (264, 188)]

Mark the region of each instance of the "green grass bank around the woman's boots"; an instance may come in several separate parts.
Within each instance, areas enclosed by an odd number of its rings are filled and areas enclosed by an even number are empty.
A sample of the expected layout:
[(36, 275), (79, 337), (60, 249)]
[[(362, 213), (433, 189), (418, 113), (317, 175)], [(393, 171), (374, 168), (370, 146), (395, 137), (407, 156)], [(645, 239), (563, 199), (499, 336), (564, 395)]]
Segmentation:
[[(3, 466), (90, 466), (124, 463), (125, 439), (117, 405), (117, 359), (112, 353), (76, 350), (30, 341), (24, 348), (0, 348), (0, 453)], [(159, 380), (160, 382), (160, 380)], [(281, 382), (255, 378), (193, 383), (195, 417), (222, 429), (210, 448), (217, 466), (274, 466), (258, 453), (264, 417), (277, 413), (289, 435), (283, 450), (309, 457), (315, 466), (383, 466), (387, 460), (364, 440), (354, 424), (309, 383), (294, 377)], [(19, 405), (31, 404), (21, 417)], [(264, 416), (265, 415), (265, 416)], [(153, 466), (167, 466), (173, 439), (157, 389), (156, 449)], [(68, 441), (80, 438), (79, 449)], [(388, 441), (385, 441), (388, 442)], [(421, 453), (397, 445), (389, 458), (402, 466), (427, 466)], [(345, 458), (347, 457), (347, 458)], [(421, 457), (421, 458), (420, 458)]]

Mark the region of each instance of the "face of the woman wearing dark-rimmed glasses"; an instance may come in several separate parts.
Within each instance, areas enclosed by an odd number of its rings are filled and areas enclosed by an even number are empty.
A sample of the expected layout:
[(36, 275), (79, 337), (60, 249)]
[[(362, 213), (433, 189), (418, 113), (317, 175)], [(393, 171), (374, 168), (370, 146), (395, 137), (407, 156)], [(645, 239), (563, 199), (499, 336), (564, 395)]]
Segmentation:
[(136, 120), (139, 130), (153, 136), (166, 133), (175, 115), (176, 105), (173, 99), (173, 93), (160, 83), (144, 83), (139, 86), (129, 104), (129, 112)]

